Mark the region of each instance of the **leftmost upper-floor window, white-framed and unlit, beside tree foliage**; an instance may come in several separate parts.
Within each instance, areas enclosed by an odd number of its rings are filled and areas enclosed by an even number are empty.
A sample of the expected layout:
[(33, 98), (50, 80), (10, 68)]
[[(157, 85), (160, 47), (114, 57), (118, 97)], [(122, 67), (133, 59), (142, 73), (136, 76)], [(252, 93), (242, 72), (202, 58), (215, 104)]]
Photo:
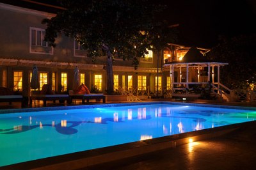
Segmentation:
[(45, 29), (30, 27), (30, 52), (38, 54), (53, 54), (53, 48), (44, 41)]

